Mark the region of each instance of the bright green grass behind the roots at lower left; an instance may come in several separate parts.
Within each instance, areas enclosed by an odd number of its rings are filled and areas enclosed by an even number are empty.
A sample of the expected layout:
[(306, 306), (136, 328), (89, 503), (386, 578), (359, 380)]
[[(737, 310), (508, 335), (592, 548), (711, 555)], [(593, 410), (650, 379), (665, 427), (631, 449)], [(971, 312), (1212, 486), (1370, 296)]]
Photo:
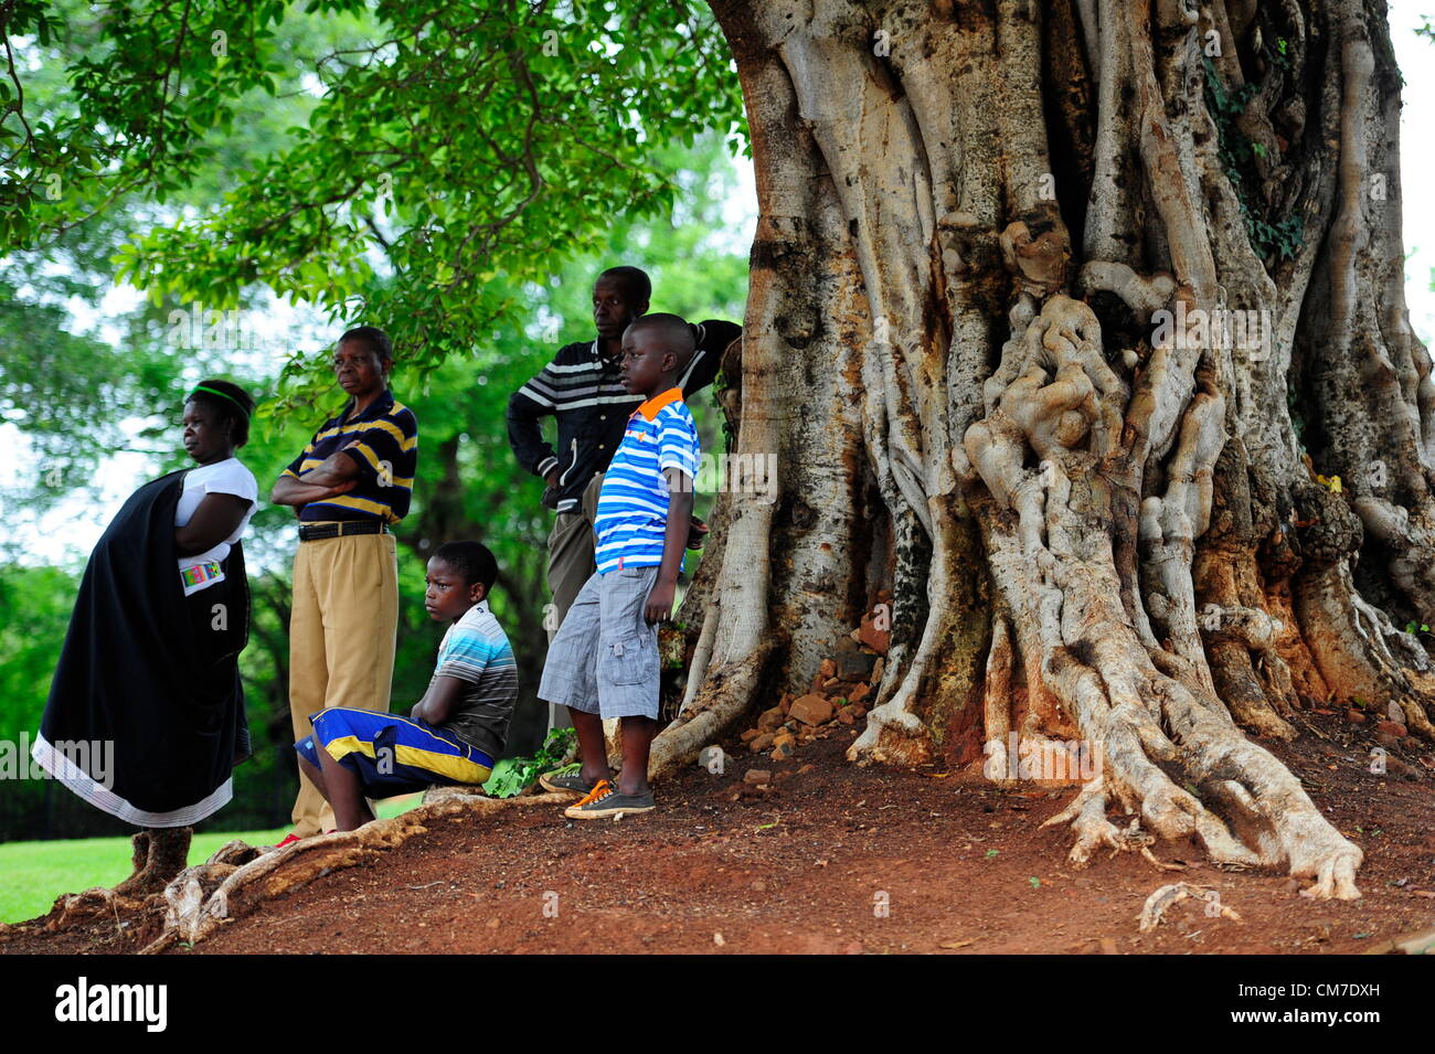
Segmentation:
[[(397, 816), (419, 804), (419, 794), (379, 803), (379, 816)], [(288, 833), (274, 830), (217, 830), (195, 835), (189, 863), (208, 859), (225, 842), (271, 846)], [(0, 845), (0, 922), (23, 922), (44, 915), (55, 898), (95, 886), (113, 886), (129, 876), (128, 837), (77, 837), (55, 842)]]

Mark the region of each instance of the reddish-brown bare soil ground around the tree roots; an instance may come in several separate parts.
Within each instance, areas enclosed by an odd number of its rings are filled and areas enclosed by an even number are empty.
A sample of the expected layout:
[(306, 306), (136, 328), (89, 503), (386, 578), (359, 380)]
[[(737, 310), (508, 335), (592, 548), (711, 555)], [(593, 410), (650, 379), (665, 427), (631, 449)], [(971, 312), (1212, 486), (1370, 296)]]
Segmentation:
[[(1319, 736), (1267, 746), (1363, 848), (1355, 902), (1312, 902), (1284, 876), (1214, 868), (1194, 845), (1154, 846), (1188, 863), (1180, 875), (1131, 853), (1073, 870), (1069, 833), (1038, 830), (1073, 790), (858, 769), (841, 757), (855, 731), (838, 728), (781, 763), (730, 744), (738, 763), (725, 774), (689, 767), (647, 816), (575, 825), (525, 809), (439, 822), (174, 954), (1349, 954), (1429, 929), (1432, 779), (1375, 776), (1347, 726), (1313, 720)], [(752, 767), (773, 771), (771, 790), (732, 800)], [(1147, 896), (1175, 880), (1217, 889), (1241, 921), (1184, 901), (1139, 934)], [(156, 929), (155, 916), (62, 934), (26, 925), (0, 952), (132, 951)]]

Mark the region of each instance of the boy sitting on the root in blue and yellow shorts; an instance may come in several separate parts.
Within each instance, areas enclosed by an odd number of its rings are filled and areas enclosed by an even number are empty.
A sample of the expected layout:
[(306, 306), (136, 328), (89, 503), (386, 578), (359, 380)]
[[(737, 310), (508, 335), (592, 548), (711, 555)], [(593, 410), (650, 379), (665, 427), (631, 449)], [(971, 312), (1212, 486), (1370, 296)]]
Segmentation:
[[(482, 783), (502, 753), (518, 701), (518, 667), (488, 591), (498, 576), (479, 542), (448, 542), (429, 558), (423, 607), (452, 625), (438, 665), (409, 717), (331, 707), (294, 749), (298, 764), (334, 810), (339, 830), (373, 819), (364, 799), (433, 783)], [(359, 641), (352, 642), (362, 647)]]

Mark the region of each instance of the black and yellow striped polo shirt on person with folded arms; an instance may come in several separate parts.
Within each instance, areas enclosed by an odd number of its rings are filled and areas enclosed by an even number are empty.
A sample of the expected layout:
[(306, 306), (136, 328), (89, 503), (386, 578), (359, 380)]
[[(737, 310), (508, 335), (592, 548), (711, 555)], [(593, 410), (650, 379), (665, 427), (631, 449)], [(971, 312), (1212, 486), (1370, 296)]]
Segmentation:
[(324, 422), (284, 475), (298, 478), (343, 450), (359, 463), (359, 482), (347, 493), (310, 502), (300, 509), (298, 518), (306, 522), (382, 519), (397, 523), (409, 515), (413, 473), (419, 465), (419, 423), (413, 410), (387, 389), (352, 420), (347, 417), (350, 406)]

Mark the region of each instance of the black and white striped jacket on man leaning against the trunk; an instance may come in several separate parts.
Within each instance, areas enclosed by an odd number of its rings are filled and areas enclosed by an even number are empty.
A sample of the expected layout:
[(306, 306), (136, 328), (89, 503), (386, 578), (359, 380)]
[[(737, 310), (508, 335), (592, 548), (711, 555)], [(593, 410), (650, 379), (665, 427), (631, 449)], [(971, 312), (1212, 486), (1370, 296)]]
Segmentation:
[[(693, 331), (697, 351), (680, 379), (684, 399), (712, 384), (722, 353), (742, 336), (740, 326), (716, 318), (695, 323)], [(558, 469), (555, 508), (571, 512), (588, 482), (607, 470), (627, 419), (641, 403), (641, 396), (624, 390), (617, 361), (603, 359), (598, 341), (565, 344), (509, 397), (508, 442), (518, 463), (535, 476)], [(542, 437), (538, 419), (545, 414), (558, 419), (557, 449)]]

